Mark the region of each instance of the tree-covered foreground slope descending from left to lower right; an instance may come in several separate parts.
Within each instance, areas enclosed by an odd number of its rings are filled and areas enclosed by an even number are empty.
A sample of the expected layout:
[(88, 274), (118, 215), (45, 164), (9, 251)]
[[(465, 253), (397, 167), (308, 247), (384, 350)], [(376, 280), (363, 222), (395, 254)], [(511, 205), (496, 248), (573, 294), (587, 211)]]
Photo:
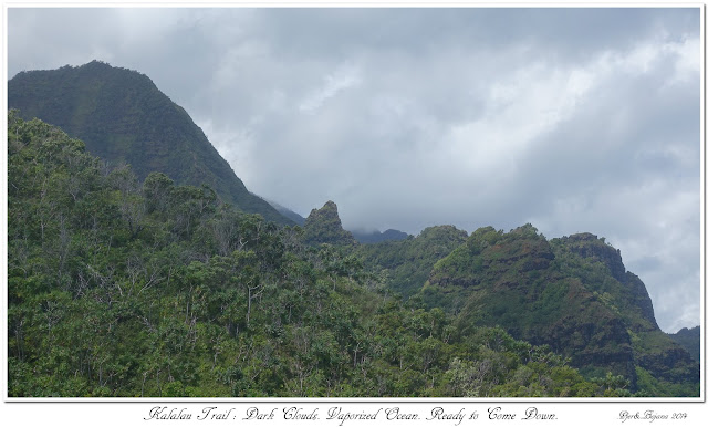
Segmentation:
[(140, 183), (53, 126), (8, 122), (10, 396), (628, 393), (403, 303), (344, 249), (207, 186)]

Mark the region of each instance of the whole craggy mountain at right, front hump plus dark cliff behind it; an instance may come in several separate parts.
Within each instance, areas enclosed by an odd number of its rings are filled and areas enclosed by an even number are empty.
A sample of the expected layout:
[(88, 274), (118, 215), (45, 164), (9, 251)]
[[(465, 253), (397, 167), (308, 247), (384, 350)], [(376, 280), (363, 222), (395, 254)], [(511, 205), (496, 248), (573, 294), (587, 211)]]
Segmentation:
[(644, 283), (593, 235), (548, 241), (530, 225), (480, 228), (435, 264), (420, 295), (459, 311), (460, 331), (500, 326), (549, 345), (589, 377), (612, 373), (665, 394), (676, 384), (697, 389), (698, 365), (658, 329)]

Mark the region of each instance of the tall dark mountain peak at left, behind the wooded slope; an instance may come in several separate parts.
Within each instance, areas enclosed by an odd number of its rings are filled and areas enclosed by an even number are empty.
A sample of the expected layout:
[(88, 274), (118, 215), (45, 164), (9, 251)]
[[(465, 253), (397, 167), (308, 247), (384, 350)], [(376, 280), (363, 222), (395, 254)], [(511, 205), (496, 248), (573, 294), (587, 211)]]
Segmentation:
[(129, 164), (140, 180), (162, 171), (177, 184), (207, 184), (240, 210), (294, 225), (249, 194), (187, 112), (138, 72), (98, 61), (21, 72), (8, 83), (8, 105), (61, 127), (104, 160)]

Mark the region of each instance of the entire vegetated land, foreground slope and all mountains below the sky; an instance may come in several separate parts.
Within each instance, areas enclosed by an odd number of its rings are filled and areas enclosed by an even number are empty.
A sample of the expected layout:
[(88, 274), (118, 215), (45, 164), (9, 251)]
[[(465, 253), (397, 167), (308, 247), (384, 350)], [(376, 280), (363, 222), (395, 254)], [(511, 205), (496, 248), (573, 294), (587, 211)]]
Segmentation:
[(699, 394), (698, 330), (662, 332), (596, 236), (304, 219), (100, 62), (20, 73), (9, 102), (10, 396)]

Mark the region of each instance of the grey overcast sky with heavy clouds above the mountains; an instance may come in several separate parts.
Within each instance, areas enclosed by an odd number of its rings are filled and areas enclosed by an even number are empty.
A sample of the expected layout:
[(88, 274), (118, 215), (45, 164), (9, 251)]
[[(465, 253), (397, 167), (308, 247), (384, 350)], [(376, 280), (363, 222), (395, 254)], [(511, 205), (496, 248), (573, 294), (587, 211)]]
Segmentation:
[(8, 77), (148, 75), (253, 192), (345, 228), (451, 223), (622, 250), (699, 324), (700, 10), (9, 9)]

